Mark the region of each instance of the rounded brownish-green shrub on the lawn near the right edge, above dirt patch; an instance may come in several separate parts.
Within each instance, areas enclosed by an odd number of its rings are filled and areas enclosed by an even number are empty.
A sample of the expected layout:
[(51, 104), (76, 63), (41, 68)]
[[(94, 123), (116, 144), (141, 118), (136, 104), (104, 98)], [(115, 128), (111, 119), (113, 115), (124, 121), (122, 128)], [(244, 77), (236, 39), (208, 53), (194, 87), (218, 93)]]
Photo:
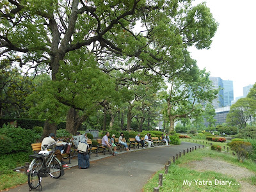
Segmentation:
[(246, 157), (252, 152), (252, 144), (245, 141), (232, 141), (229, 143), (231, 150), (237, 154), (238, 161), (244, 161)]

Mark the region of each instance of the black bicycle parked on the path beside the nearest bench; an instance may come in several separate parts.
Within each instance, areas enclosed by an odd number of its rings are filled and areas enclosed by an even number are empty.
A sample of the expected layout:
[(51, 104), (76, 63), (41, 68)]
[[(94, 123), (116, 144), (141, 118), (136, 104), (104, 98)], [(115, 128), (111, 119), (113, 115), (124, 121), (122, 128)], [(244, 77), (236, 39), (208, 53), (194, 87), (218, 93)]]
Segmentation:
[[(61, 166), (60, 161), (55, 157), (55, 143), (51, 145), (44, 145), (43, 150), (38, 154), (30, 155), (34, 159), (29, 164), (28, 168), (28, 186), (29, 191), (41, 188), (42, 191), (42, 177), (48, 177), (51, 175), (52, 178), (58, 179), (61, 175), (64, 175), (64, 169)], [(47, 149), (53, 148), (51, 151)]]

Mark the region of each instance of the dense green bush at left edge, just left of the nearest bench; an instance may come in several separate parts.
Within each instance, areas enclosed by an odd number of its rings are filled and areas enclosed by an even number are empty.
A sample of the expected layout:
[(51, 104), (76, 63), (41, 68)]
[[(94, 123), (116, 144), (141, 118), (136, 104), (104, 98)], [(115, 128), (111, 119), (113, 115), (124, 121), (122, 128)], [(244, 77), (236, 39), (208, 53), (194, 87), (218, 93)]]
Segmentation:
[(14, 143), (13, 151), (15, 152), (30, 152), (31, 143), (35, 143), (38, 139), (38, 134), (31, 129), (22, 129), (20, 127), (12, 127), (12, 125), (3, 125), (0, 129), (0, 134), (12, 138)]

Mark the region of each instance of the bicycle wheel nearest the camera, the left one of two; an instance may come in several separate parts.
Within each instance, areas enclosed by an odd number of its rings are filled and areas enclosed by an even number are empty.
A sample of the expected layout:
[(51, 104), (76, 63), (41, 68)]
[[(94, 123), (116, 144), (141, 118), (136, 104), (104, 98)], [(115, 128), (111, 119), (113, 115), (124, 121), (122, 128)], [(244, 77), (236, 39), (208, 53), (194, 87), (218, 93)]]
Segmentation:
[(40, 185), (42, 181), (42, 177), (38, 176), (38, 171), (43, 168), (43, 160), (40, 158), (33, 159), (31, 164), (29, 165), (28, 172), (28, 186), (31, 189), (36, 189)]

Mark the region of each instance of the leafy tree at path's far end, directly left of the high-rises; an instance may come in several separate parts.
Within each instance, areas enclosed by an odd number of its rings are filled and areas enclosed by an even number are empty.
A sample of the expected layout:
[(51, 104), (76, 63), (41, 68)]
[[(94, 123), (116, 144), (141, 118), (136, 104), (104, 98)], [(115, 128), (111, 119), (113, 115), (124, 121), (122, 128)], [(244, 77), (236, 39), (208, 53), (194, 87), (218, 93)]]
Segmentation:
[(163, 93), (166, 100), (166, 115), (170, 121), (170, 130), (174, 131), (174, 123), (178, 118), (193, 118), (202, 113), (200, 106), (211, 102), (218, 90), (212, 88), (209, 73), (196, 66), (184, 77), (169, 79), (170, 90)]

